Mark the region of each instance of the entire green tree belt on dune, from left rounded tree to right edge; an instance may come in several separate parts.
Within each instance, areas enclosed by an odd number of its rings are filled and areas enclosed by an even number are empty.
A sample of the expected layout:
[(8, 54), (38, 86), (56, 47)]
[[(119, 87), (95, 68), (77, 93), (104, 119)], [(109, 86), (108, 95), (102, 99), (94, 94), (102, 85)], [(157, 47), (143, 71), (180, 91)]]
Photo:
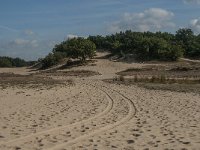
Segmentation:
[(39, 61), (42, 68), (56, 65), (63, 59), (92, 58), (96, 49), (108, 50), (114, 55), (131, 54), (136, 60), (176, 61), (180, 57), (200, 58), (200, 35), (191, 29), (168, 32), (133, 32), (127, 30), (108, 36), (73, 38), (55, 45), (53, 51)]

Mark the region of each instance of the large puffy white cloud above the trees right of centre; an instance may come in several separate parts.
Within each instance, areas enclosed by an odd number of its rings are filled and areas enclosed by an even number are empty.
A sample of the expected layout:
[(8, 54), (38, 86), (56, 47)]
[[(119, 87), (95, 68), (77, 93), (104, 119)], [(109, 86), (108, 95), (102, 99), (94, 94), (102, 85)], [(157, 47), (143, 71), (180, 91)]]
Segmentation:
[(134, 31), (156, 31), (173, 28), (174, 14), (161, 8), (150, 8), (141, 13), (125, 13), (119, 21), (113, 22), (109, 31), (119, 32), (127, 29)]

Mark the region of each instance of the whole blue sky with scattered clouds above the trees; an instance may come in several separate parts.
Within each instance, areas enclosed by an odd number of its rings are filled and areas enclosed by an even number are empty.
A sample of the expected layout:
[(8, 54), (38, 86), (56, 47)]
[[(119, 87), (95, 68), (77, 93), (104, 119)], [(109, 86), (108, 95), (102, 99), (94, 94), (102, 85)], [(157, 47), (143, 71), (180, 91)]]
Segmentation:
[(179, 28), (200, 34), (200, 0), (0, 0), (0, 56), (25, 60), (71, 37)]

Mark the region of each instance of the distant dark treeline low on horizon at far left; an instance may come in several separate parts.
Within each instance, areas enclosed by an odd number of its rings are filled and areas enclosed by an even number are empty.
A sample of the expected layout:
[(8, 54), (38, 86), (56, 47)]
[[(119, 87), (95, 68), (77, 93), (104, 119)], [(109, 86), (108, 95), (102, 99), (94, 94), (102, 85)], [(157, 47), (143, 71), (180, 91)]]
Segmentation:
[(35, 61), (25, 61), (21, 58), (0, 56), (0, 67), (25, 67), (25, 66), (31, 66), (34, 63)]

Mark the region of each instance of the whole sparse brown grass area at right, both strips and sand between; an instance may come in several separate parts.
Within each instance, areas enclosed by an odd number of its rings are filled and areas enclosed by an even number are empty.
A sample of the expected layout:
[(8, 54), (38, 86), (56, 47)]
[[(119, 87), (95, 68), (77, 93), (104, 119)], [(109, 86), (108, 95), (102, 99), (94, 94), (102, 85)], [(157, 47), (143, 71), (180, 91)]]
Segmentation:
[(200, 93), (200, 65), (196, 63), (154, 64), (129, 68), (116, 74), (117, 77), (107, 81), (125, 85), (136, 84), (153, 90)]

